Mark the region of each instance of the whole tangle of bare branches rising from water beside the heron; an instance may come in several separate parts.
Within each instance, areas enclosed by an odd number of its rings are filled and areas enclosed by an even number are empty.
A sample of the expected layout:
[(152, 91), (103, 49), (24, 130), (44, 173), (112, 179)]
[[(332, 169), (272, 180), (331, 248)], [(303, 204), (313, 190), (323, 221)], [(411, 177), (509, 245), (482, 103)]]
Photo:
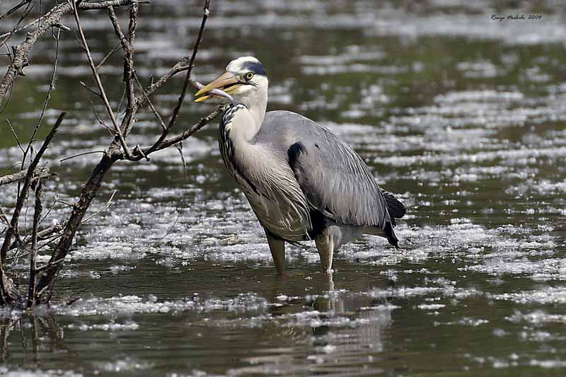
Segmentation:
[[(135, 71), (134, 52), (135, 36), (139, 21), (139, 6), (146, 4), (147, 2), (148, 1), (139, 0), (108, 0), (98, 2), (81, 2), (80, 0), (76, 2), (73, 0), (63, 1), (61, 4), (54, 6), (50, 11), (45, 13), (45, 16), (28, 23), (28, 25), (15, 27), (11, 30), (11, 32), (0, 35), (0, 45), (4, 45), (13, 35), (21, 33), (24, 30), (32, 30), (28, 32), (25, 40), (21, 42), (21, 44), (12, 48), (13, 54), (11, 54), (11, 64), (9, 64), (4, 78), (0, 81), (0, 103), (2, 103), (3, 101), (6, 101), (6, 95), (9, 93), (16, 78), (18, 76), (25, 76), (24, 69), (25, 66), (29, 64), (28, 54), (32, 50), (35, 42), (42, 37), (47, 30), (52, 30), (53, 28), (58, 29), (59, 32), (60, 30), (69, 30), (67, 26), (62, 25), (61, 18), (66, 13), (72, 13), (75, 23), (74, 28), (79, 37), (81, 47), (83, 48), (86, 64), (90, 67), (94, 82), (96, 83), (96, 90), (89, 88), (89, 91), (94, 93), (103, 103), (106, 115), (110, 119), (111, 123), (108, 129), (111, 130), (113, 135), (112, 140), (109, 141), (108, 149), (102, 152), (100, 161), (93, 168), (90, 178), (88, 178), (86, 183), (83, 185), (79, 198), (74, 204), (72, 204), (71, 214), (69, 214), (67, 219), (60, 221), (54, 226), (42, 228), (40, 224), (42, 219), (42, 180), (48, 179), (52, 174), (47, 168), (40, 167), (40, 161), (43, 153), (47, 149), (47, 146), (52, 143), (54, 136), (57, 133), (57, 129), (61, 127), (64, 121), (64, 112), (59, 115), (57, 122), (54, 123), (50, 133), (45, 141), (43, 141), (40, 149), (35, 152), (33, 158), (29, 156), (30, 164), (27, 168), (24, 168), (23, 163), (28, 157), (27, 152), (30, 151), (33, 137), (30, 139), (27, 149), (23, 149), (21, 146), (24, 154), (21, 166), (22, 170), (12, 175), (0, 177), (0, 185), (13, 182), (19, 182), (18, 185), (21, 185), (17, 193), (18, 196), (16, 198), (16, 205), (11, 212), (11, 216), (8, 216), (6, 212), (0, 208), (0, 220), (5, 226), (4, 241), (0, 249), (0, 305), (32, 307), (39, 303), (47, 303), (50, 300), (54, 284), (57, 280), (57, 275), (61, 271), (63, 262), (69, 254), (76, 231), (79, 229), (79, 226), (86, 221), (86, 219), (84, 219), (86, 212), (93, 202), (93, 199), (96, 197), (105, 175), (108, 173), (110, 168), (112, 168), (114, 163), (122, 160), (135, 162), (141, 161), (142, 159), (149, 159), (151, 153), (170, 146), (175, 146), (180, 143), (180, 141), (191, 137), (192, 134), (195, 134), (195, 132), (214, 119), (214, 117), (221, 114), (223, 110), (223, 108), (219, 107), (214, 110), (214, 112), (203, 117), (196, 124), (193, 124), (191, 127), (182, 130), (178, 134), (175, 134), (175, 136), (169, 136), (171, 131), (174, 129), (175, 121), (178, 119), (180, 109), (183, 106), (188, 86), (190, 84), (198, 86), (197, 83), (192, 81), (191, 73), (202, 41), (202, 35), (207, 23), (207, 18), (209, 17), (209, 0), (204, 1), (202, 22), (195, 40), (195, 45), (192, 48), (192, 52), (183, 57), (183, 59), (180, 59), (180, 61), (171, 67), (171, 69), (161, 76), (160, 79), (154, 82), (152, 81), (149, 86), (144, 88), (141, 85)], [(7, 12), (5, 15), (2, 15), (2, 17), (9, 17), (12, 14), (16, 14), (19, 8), (24, 8), (27, 4), (28, 1), (23, 0), (21, 4), (17, 5), (17, 8), (15, 6), (8, 11), (10, 14)], [(115, 7), (120, 6), (129, 6), (129, 24), (127, 31), (122, 30), (122, 26), (120, 25), (115, 13)], [(86, 35), (81, 25), (81, 13), (87, 10), (108, 11), (108, 18), (110, 18), (115, 35), (119, 41), (119, 46), (121, 47), (124, 55), (123, 84), (127, 105), (120, 122), (118, 121), (115, 111), (110, 105), (110, 100), (106, 94), (103, 80), (99, 74), (100, 66), (104, 64), (106, 58), (102, 59), (102, 61), (98, 64), (94, 62)], [(20, 23), (21, 22), (18, 22), (17, 25)], [(55, 60), (54, 68), (56, 66), (57, 59)], [(53, 71), (52, 83), (55, 71), (56, 69)], [(151, 96), (165, 85), (169, 79), (183, 71), (186, 71), (183, 87), (181, 88), (175, 108), (173, 108), (171, 113), (172, 115), (169, 120), (166, 121), (151, 102)], [(50, 85), (50, 91), (52, 89), (52, 83)], [(83, 85), (86, 86), (86, 84)], [(44, 111), (47, 107), (48, 100), (49, 94), (45, 100)], [(129, 135), (132, 134), (135, 129), (135, 119), (138, 110), (145, 106), (149, 107), (151, 112), (154, 114), (158, 126), (161, 127), (161, 134), (151, 145), (137, 145), (134, 148), (131, 148), (128, 146), (127, 140)], [(103, 122), (100, 119), (99, 121)], [(40, 122), (37, 123), (37, 127), (39, 127), (39, 124)], [(35, 195), (33, 225), (30, 231), (28, 231), (28, 236), (23, 236), (25, 233), (19, 229), (19, 222), (25, 199), (28, 198), (30, 192), (33, 192), (33, 195)], [(107, 206), (108, 204), (110, 204), (110, 201), (107, 203)], [(37, 262), (37, 250), (40, 248), (39, 243), (42, 240), (45, 240), (45, 243), (50, 243), (50, 245), (52, 245), (52, 249), (50, 251), (51, 254), (49, 261), (40, 265), (39, 262)], [(6, 270), (6, 260), (8, 260), (9, 255), (14, 252), (23, 252), (29, 255), (30, 269), (29, 279), (27, 282), (28, 289), (21, 289), (21, 287), (18, 286), (9, 276), (10, 271)]]

